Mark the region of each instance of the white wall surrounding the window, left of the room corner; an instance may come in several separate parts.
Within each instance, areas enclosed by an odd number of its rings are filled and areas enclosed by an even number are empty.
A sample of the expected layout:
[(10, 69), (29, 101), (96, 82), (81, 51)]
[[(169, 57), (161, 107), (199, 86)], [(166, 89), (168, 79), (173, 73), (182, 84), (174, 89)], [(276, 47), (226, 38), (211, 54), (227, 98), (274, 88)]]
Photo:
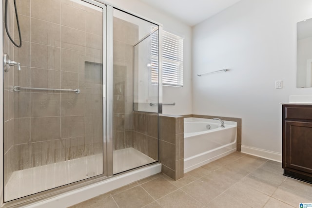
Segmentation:
[(163, 106), (164, 114), (192, 113), (192, 28), (139, 0), (103, 0), (112, 6), (130, 13), (151, 19), (163, 25), (163, 29), (184, 38), (184, 86), (163, 87), (163, 103), (176, 103), (176, 106)]

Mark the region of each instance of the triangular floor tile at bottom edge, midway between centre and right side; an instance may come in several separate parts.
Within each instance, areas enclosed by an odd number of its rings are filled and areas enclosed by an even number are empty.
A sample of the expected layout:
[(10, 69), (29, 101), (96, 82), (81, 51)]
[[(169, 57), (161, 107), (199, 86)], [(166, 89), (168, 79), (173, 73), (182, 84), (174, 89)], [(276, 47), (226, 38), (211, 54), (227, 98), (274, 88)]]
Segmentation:
[(241, 201), (233, 198), (232, 196), (223, 193), (215, 200), (210, 202), (207, 208), (251, 208), (250, 206), (242, 203)]

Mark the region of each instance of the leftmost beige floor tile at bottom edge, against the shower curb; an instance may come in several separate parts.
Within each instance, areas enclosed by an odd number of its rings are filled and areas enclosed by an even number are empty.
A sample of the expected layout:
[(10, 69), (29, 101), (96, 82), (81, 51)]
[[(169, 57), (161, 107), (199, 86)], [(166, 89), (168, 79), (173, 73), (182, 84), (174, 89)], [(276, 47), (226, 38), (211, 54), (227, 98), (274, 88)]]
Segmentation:
[(103, 194), (75, 205), (74, 208), (118, 208), (110, 194)]

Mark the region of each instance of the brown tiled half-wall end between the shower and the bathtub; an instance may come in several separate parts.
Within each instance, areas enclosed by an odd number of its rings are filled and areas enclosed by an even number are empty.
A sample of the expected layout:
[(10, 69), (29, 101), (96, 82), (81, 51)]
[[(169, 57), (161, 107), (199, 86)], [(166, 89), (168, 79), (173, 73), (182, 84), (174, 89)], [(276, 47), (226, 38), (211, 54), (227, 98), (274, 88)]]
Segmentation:
[(160, 116), (160, 162), (161, 171), (178, 180), (183, 177), (184, 164), (183, 116)]

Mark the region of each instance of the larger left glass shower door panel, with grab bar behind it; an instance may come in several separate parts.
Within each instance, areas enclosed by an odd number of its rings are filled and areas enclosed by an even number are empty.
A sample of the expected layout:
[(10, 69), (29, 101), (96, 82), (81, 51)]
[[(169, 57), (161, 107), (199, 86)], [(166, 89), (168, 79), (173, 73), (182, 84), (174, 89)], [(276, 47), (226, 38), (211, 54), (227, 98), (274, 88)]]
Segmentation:
[[(105, 6), (28, 0), (17, 10), (22, 46), (3, 30), (3, 53), (20, 62), (3, 72), (5, 202), (106, 175)], [(7, 20), (19, 42), (13, 1)]]

